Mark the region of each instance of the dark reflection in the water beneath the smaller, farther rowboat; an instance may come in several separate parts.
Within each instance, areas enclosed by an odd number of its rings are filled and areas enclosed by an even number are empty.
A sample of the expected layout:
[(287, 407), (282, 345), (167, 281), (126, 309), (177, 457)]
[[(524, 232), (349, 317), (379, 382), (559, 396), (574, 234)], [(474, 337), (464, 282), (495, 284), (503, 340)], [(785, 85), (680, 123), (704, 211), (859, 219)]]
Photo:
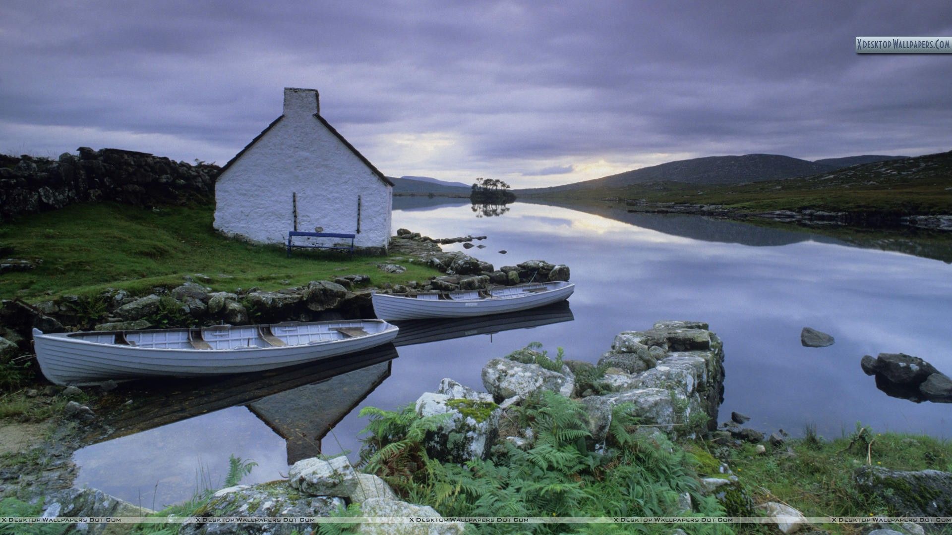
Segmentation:
[(396, 347), (413, 346), (477, 334), (493, 334), (516, 328), (559, 324), (574, 319), (575, 316), (572, 315), (568, 302), (563, 301), (546, 307), (475, 318), (394, 322), (397, 327), (400, 327), (400, 333), (393, 340), (393, 345)]

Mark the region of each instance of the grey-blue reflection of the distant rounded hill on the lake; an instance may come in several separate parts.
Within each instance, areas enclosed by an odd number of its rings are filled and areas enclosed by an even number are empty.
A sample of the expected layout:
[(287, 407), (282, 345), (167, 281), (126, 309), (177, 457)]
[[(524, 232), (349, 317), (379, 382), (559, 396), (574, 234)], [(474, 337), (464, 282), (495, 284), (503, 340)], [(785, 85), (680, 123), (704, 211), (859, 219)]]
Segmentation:
[[(528, 201), (527, 201), (528, 202)], [(670, 234), (683, 236), (704, 242), (724, 242), (744, 246), (785, 246), (806, 240), (825, 243), (842, 243), (834, 238), (818, 236), (805, 230), (782, 230), (778, 228), (756, 227), (737, 221), (711, 219), (698, 215), (658, 214), (629, 212), (625, 205), (605, 203), (574, 204), (533, 200), (533, 203), (560, 208), (570, 208), (621, 221), (640, 228), (649, 228)]]

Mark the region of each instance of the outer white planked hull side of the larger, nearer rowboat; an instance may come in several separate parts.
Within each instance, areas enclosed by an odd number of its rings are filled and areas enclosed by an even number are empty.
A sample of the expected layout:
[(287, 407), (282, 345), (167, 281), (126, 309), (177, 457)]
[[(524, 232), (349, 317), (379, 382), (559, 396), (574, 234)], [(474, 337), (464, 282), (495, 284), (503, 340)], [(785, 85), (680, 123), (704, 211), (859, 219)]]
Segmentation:
[(149, 377), (201, 377), (248, 373), (305, 364), (387, 344), (398, 332), (380, 332), (314, 345), (234, 349), (129, 347), (33, 332), (36, 360), (43, 375), (61, 386), (97, 385)]

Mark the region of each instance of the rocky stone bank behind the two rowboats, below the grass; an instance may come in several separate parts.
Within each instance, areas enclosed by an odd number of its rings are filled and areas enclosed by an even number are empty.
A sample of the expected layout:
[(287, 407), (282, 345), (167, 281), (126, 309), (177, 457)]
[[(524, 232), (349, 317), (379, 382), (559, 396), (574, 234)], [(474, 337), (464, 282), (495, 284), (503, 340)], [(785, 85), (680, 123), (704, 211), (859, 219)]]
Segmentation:
[[(32, 353), (31, 329), (44, 332), (69, 330), (129, 330), (196, 327), (217, 324), (248, 325), (282, 321), (332, 321), (374, 316), (372, 291), (401, 293), (409, 290), (484, 289), (527, 282), (567, 281), (565, 265), (531, 260), (496, 269), (462, 251), (444, 251), (440, 244), (469, 243), (485, 236), (436, 239), (401, 228), (391, 238), (391, 261), (423, 264), (442, 276), (407, 285), (373, 286), (373, 276), (350, 274), (332, 281), (311, 281), (301, 287), (262, 290), (258, 287), (213, 291), (211, 278), (195, 273), (184, 276), (177, 287), (153, 287), (147, 295), (133, 296), (123, 289), (107, 288), (94, 296), (63, 295), (39, 303), (0, 301), (0, 362)], [(381, 264), (388, 272), (405, 270), (399, 264)]]

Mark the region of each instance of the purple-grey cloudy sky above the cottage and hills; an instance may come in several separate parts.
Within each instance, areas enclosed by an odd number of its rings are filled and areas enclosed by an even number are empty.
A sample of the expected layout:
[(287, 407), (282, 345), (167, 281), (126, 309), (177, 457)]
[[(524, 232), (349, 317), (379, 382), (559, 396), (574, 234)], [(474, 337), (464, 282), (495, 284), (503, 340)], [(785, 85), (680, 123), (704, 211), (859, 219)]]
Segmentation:
[(952, 149), (952, 54), (858, 35), (952, 35), (952, 4), (4, 0), (0, 152), (224, 164), (284, 87), (388, 175), (467, 183)]

